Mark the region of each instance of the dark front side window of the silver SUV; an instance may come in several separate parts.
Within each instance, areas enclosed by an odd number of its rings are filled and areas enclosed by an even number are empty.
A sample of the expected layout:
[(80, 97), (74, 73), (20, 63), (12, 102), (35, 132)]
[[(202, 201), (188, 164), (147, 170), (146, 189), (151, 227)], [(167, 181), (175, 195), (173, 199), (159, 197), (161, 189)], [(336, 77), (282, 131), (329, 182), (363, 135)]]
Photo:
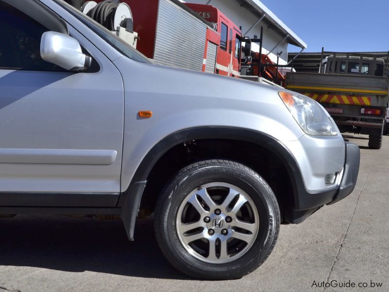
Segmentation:
[(35, 19), (0, 1), (0, 69), (65, 71), (40, 56), (40, 39), (49, 31)]

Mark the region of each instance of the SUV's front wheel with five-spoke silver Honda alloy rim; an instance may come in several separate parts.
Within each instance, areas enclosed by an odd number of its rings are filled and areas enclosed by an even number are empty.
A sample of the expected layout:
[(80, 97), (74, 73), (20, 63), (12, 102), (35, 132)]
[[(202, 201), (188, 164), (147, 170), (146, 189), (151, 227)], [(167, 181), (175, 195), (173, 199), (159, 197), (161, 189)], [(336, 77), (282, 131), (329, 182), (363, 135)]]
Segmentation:
[(273, 191), (247, 166), (207, 160), (181, 169), (157, 201), (157, 241), (177, 270), (236, 279), (270, 255), (280, 230)]

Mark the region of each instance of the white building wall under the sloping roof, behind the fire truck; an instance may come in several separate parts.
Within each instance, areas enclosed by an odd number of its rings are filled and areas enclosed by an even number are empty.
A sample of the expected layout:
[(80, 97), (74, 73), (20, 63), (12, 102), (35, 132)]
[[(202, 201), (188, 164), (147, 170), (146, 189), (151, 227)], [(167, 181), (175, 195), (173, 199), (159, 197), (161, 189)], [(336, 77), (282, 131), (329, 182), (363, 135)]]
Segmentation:
[[(208, 0), (186, 0), (186, 2), (206, 4)], [(238, 27), (242, 26), (242, 34), (245, 34), (248, 29), (257, 22), (258, 14), (254, 14), (245, 7), (241, 7), (236, 0), (212, 0), (210, 5), (217, 7), (223, 14), (230, 18)], [(261, 26), (264, 27), (264, 39), (262, 53), (267, 54), (275, 45), (277, 45), (285, 36), (275, 32), (271, 28), (268, 28), (267, 24), (262, 20), (254, 28), (252, 28), (248, 37), (252, 38), (254, 35), (259, 37), (261, 35)], [(259, 52), (259, 45), (252, 44), (252, 50)], [(283, 41), (274, 51), (270, 54), (270, 59), (276, 63), (277, 53), (282, 52), (279, 59), (279, 64), (284, 65), (287, 63), (288, 58), (288, 43)]]

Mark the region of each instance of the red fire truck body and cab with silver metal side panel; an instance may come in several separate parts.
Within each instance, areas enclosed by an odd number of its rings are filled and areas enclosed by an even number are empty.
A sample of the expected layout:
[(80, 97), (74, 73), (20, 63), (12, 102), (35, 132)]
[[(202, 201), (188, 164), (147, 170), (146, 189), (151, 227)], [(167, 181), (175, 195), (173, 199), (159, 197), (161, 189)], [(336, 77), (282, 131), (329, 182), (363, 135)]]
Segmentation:
[(122, 0), (133, 13), (137, 49), (157, 63), (239, 76), (240, 29), (211, 5)]

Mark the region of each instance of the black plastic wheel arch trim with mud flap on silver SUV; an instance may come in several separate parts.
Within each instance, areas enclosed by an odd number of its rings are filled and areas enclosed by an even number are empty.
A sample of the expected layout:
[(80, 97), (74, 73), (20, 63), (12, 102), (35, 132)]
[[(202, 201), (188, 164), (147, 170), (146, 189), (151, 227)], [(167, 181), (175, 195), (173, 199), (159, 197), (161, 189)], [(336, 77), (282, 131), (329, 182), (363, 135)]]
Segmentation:
[(246, 141), (266, 147), (276, 154), (283, 162), (291, 178), (294, 198), (290, 219), (292, 223), (302, 222), (308, 217), (301, 216), (301, 214), (310, 212), (300, 212), (301, 210), (318, 209), (320, 206), (332, 201), (337, 193), (337, 189), (322, 193), (309, 193), (305, 188), (300, 167), (293, 154), (280, 141), (268, 134), (252, 129), (235, 127), (212, 126), (182, 129), (166, 136), (153, 146), (141, 161), (128, 189), (119, 198), (118, 207), (122, 208), (121, 217), (130, 240), (134, 239), (135, 221), (139, 211), (143, 189), (154, 165), (172, 147), (185, 141), (199, 139)]

